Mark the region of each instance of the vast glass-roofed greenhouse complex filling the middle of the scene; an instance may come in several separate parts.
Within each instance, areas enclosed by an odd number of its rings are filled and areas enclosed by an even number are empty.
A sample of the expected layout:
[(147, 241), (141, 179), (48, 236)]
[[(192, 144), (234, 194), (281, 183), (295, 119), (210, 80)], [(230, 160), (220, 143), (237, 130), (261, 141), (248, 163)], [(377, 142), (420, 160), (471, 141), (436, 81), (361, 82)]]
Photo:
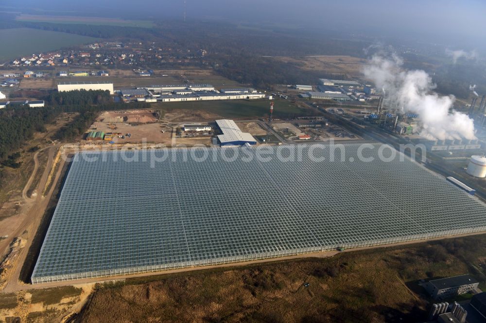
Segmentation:
[(486, 230), (479, 199), (403, 155), (380, 159), (378, 144), (345, 145), (336, 161), (330, 146), (298, 145), (292, 158), (294, 146), (266, 160), (258, 147), (78, 153), (32, 282)]

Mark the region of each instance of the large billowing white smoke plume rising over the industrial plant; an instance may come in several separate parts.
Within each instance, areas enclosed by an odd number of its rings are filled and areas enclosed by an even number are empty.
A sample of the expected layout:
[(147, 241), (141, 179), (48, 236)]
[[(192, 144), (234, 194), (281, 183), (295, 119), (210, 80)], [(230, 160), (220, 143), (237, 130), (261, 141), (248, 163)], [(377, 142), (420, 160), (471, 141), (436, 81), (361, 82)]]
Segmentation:
[(475, 139), (474, 123), (464, 113), (452, 110), (454, 96), (439, 96), (432, 78), (423, 70), (404, 70), (397, 55), (375, 55), (364, 67), (364, 76), (386, 91), (391, 106), (419, 114), (419, 134), (429, 139)]

